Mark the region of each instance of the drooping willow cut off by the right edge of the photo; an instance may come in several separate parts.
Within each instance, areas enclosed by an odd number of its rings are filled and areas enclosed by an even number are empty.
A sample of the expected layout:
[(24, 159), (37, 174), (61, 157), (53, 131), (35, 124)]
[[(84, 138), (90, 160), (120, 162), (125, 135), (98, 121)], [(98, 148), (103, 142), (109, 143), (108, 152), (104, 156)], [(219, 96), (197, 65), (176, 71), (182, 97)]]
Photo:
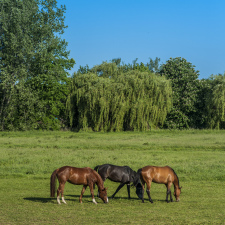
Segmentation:
[(208, 92), (206, 105), (208, 127), (225, 129), (225, 74), (211, 77), (211, 92)]

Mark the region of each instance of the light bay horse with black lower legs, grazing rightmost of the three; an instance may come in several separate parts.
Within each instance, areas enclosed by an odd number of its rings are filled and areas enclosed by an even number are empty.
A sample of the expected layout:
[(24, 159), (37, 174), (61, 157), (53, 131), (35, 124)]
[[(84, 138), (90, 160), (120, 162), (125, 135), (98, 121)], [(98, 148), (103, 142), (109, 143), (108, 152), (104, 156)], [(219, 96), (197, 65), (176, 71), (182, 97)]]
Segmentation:
[(171, 185), (174, 185), (174, 196), (176, 201), (180, 201), (180, 193), (181, 187), (179, 186), (179, 179), (177, 174), (174, 172), (172, 168), (169, 166), (165, 167), (157, 167), (157, 166), (145, 166), (138, 170), (138, 174), (140, 174), (140, 179), (142, 182), (142, 202), (144, 202), (144, 189), (145, 183), (147, 184), (146, 192), (148, 194), (149, 201), (153, 203), (151, 196), (150, 196), (150, 188), (151, 183), (158, 183), (158, 184), (165, 184), (167, 187), (166, 192), (166, 201), (168, 201), (168, 196), (170, 195), (170, 201), (173, 201), (172, 194), (171, 194)]

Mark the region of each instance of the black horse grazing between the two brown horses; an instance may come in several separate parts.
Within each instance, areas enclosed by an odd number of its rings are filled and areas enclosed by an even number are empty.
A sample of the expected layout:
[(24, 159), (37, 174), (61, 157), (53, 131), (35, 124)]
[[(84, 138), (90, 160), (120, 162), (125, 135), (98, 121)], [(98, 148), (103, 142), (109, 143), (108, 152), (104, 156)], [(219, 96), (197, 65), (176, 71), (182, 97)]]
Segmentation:
[(111, 198), (114, 198), (116, 193), (126, 184), (128, 198), (130, 198), (130, 183), (136, 187), (137, 196), (142, 199), (142, 185), (140, 175), (133, 171), (129, 166), (115, 166), (111, 164), (98, 165), (94, 168), (99, 173), (103, 182), (108, 178), (111, 181), (119, 182), (120, 185), (116, 189)]

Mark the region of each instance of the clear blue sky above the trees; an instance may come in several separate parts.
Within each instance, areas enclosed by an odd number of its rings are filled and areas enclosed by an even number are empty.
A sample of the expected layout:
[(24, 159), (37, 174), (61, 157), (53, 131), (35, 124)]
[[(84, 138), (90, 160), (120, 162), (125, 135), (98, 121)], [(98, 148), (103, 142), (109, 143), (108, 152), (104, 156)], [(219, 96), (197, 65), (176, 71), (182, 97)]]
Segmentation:
[(58, 0), (76, 65), (182, 57), (199, 78), (225, 72), (225, 0)]

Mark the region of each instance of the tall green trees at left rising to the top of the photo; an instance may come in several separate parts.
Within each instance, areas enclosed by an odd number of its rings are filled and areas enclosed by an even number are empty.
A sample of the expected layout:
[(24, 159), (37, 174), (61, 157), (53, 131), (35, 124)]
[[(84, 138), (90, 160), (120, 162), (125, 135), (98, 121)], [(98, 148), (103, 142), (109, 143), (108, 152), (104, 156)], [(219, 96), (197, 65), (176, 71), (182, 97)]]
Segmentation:
[(57, 128), (75, 63), (61, 39), (65, 7), (2, 0), (0, 10), (0, 129)]

